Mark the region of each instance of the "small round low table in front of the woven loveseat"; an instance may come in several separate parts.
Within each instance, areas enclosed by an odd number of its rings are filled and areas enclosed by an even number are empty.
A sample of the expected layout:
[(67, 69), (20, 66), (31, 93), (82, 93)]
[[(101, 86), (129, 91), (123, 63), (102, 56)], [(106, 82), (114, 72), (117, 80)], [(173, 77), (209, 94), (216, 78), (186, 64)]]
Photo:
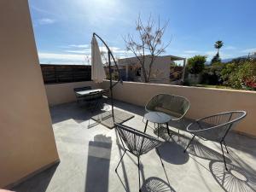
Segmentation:
[[(168, 135), (170, 136), (170, 131), (168, 128), (168, 122), (172, 119), (168, 114), (161, 113), (161, 112), (148, 112), (144, 115), (144, 118), (147, 119), (144, 132), (147, 131), (148, 121), (152, 123), (156, 123), (158, 125), (160, 124), (166, 124), (166, 129), (168, 132)], [(158, 127), (159, 129), (159, 127)]]

